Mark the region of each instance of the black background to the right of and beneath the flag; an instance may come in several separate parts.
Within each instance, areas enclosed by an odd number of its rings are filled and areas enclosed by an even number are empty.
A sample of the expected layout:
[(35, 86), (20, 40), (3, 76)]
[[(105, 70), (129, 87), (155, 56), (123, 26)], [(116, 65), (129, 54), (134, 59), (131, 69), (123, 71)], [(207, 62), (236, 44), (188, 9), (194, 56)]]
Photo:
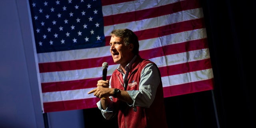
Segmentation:
[[(256, 2), (200, 1), (215, 80), (214, 90), (165, 98), (168, 126), (256, 128), (253, 95), (256, 85)], [(116, 118), (105, 120), (98, 108), (83, 112), (85, 124), (99, 120), (99, 127), (118, 128)]]

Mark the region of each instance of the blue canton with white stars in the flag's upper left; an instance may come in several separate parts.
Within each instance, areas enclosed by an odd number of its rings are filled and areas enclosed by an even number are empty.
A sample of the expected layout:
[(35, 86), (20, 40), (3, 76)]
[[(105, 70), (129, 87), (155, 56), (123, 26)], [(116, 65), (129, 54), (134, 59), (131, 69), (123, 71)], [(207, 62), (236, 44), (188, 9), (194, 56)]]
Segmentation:
[(105, 46), (100, 0), (30, 0), (37, 53)]

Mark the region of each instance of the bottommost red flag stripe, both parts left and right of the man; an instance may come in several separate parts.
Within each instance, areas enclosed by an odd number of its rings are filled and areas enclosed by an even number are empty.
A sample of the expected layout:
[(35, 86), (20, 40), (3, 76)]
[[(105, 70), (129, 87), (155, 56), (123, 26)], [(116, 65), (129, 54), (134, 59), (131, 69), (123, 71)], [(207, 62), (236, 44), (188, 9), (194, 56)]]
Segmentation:
[[(202, 80), (198, 82), (192, 82), (182, 84), (178, 86), (164, 87), (164, 97), (178, 96), (182, 94), (189, 94), (194, 92), (202, 92), (206, 90), (212, 90), (214, 79)], [(96, 108), (96, 102), (99, 98), (89, 98), (81, 100), (68, 100), (59, 102), (44, 102), (44, 112), (57, 112), (66, 110), (78, 110), (87, 108)], [(93, 103), (93, 104), (92, 104)]]

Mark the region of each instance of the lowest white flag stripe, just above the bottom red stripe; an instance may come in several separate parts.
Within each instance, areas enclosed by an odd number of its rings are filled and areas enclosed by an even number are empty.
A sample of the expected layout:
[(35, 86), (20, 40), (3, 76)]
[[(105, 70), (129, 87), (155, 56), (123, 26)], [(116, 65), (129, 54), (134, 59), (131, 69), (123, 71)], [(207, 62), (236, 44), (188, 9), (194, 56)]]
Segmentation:
[[(213, 78), (212, 69), (206, 69), (206, 70), (200, 70), (195, 72), (188, 72), (184, 74), (165, 76), (165, 77), (162, 77), (162, 83), (163, 83), (163, 87), (168, 87), (168, 86), (174, 86), (178, 84), (186, 84), (190, 82), (208, 80), (211, 78)], [(67, 90), (67, 91), (58, 91), (58, 92), (45, 92), (43, 93), (43, 97), (44, 97), (43, 102), (56, 102), (56, 101), (95, 98), (93, 93), (87, 94), (92, 89), (94, 88)]]

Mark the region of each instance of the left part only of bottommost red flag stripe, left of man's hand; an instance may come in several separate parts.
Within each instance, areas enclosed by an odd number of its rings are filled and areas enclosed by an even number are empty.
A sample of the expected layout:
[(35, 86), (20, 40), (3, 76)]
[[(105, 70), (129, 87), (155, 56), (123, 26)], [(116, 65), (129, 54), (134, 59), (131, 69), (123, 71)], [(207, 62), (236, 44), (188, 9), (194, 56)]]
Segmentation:
[(68, 100), (68, 101), (59, 101), (59, 102), (45, 102), (44, 112), (57, 112), (57, 111), (66, 111), (66, 110), (78, 110), (86, 108), (96, 108), (96, 102), (99, 98), (89, 98), (81, 100)]

